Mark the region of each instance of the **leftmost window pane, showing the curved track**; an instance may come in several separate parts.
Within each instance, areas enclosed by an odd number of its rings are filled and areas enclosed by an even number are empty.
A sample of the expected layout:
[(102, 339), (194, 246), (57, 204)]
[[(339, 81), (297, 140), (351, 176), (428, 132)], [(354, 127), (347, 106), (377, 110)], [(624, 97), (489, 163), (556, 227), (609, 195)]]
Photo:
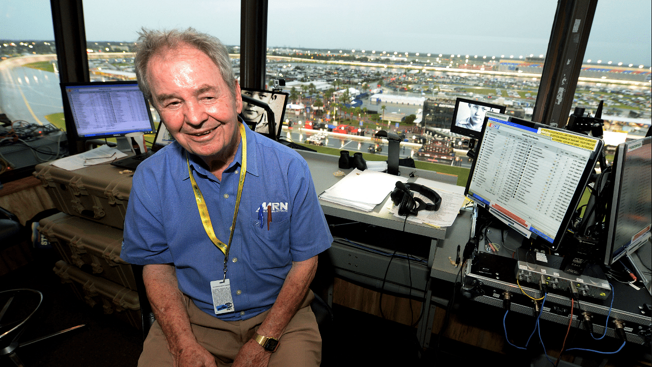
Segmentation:
[(62, 126), (50, 2), (5, 0), (0, 12), (0, 113), (6, 118), (0, 126), (14, 122), (14, 129), (8, 127), (0, 136), (29, 140), (50, 131), (33, 129), (35, 125), (48, 126), (52, 121)]

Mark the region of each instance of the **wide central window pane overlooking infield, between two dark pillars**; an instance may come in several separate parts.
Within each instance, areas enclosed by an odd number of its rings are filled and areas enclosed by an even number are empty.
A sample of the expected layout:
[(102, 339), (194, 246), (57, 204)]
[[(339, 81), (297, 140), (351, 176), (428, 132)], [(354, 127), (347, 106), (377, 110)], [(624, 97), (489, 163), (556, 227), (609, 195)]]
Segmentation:
[[(464, 155), (468, 167), (467, 149), (451, 148), (464, 143), (434, 129), (450, 127), (457, 97), (531, 118), (556, 8), (556, 1), (269, 0), (267, 84), (286, 80), (299, 106), (286, 113), (288, 124), (354, 125), (367, 135), (391, 129), (413, 144), (404, 144), (405, 155), (417, 159), (428, 142), (436, 146), (425, 147), (423, 159), (460, 165)], [(329, 143), (340, 148), (338, 139)], [(376, 152), (370, 144), (359, 149)]]

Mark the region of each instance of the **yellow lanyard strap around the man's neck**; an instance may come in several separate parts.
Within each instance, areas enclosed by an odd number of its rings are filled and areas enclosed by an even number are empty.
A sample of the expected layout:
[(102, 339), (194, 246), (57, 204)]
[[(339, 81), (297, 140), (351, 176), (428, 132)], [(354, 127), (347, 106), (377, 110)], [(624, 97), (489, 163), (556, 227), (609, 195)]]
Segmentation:
[(195, 200), (197, 201), (197, 209), (200, 211), (201, 223), (203, 224), (206, 234), (208, 234), (213, 244), (217, 246), (218, 249), (224, 253), (224, 279), (226, 279), (226, 264), (227, 258), (229, 256), (229, 249), (231, 248), (231, 241), (233, 240), (233, 231), (235, 231), (235, 219), (238, 216), (238, 209), (240, 208), (240, 199), (242, 197), (242, 191), (244, 187), (244, 175), (246, 173), (246, 130), (244, 129), (244, 124), (240, 124), (240, 138), (243, 144), (243, 164), (240, 167), (240, 180), (238, 182), (238, 194), (235, 199), (235, 211), (233, 212), (233, 223), (231, 223), (231, 234), (229, 234), (229, 243), (224, 244), (224, 242), (218, 240), (215, 236), (215, 231), (213, 231), (213, 223), (211, 223), (211, 216), (208, 213), (208, 208), (206, 207), (206, 202), (201, 195), (200, 187), (197, 185), (195, 178), (192, 176), (192, 170), (190, 170), (190, 160), (188, 159), (188, 152), (186, 152), (186, 163), (188, 163), (188, 174), (190, 174), (190, 183), (192, 183), (192, 191), (195, 193)]

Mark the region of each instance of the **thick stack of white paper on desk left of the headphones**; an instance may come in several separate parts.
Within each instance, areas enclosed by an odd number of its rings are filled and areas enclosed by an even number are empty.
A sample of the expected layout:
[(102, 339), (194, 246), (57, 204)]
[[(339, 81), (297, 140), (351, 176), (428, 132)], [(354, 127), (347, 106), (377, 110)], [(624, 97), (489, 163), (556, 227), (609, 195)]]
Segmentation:
[(356, 168), (321, 193), (319, 199), (370, 212), (392, 192), (396, 181), (408, 180), (393, 174)]

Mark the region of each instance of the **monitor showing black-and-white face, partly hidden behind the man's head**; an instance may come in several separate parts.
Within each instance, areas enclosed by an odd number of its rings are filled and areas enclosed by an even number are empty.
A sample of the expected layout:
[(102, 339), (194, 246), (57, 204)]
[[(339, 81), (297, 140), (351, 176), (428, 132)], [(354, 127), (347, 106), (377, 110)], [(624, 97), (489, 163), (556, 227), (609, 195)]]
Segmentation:
[[(288, 93), (253, 88), (241, 89), (243, 95), (258, 99), (259, 101), (269, 105), (274, 113), (274, 125), (276, 125), (276, 131), (273, 135), (277, 137), (280, 136), (286, 104), (288, 104)], [(243, 120), (247, 121), (250, 126), (253, 126), (253, 130), (257, 133), (271, 135), (271, 132), (269, 131), (269, 121), (267, 120), (267, 111), (265, 111), (265, 108), (243, 101), (242, 116)]]

